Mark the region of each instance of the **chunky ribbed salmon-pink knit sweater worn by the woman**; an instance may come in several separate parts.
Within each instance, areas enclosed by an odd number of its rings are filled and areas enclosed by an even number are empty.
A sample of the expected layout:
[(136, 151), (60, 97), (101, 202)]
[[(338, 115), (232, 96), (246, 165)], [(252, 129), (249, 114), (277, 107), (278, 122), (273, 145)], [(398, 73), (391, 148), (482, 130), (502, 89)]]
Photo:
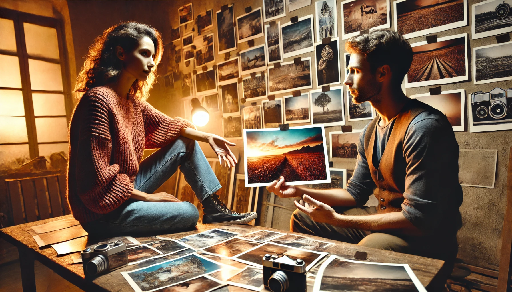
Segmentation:
[(67, 195), (75, 219), (89, 222), (119, 207), (132, 193), (144, 149), (169, 144), (187, 127), (194, 125), (108, 86), (90, 89), (70, 125)]

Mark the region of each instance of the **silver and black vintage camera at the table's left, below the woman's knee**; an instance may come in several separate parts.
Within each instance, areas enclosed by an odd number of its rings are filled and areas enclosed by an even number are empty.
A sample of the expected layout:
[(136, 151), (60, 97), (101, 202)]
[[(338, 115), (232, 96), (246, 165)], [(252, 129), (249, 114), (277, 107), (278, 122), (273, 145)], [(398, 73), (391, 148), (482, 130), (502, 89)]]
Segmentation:
[(81, 254), (86, 277), (96, 277), (128, 265), (126, 244), (121, 240), (96, 244)]

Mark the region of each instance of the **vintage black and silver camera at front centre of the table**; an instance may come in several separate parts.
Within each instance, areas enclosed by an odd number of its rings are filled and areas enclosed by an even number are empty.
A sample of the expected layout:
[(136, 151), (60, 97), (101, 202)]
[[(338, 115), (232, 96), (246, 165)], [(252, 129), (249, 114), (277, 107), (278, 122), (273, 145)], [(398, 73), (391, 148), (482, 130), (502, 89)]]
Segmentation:
[(263, 257), (263, 284), (272, 292), (305, 292), (306, 263), (287, 256)]

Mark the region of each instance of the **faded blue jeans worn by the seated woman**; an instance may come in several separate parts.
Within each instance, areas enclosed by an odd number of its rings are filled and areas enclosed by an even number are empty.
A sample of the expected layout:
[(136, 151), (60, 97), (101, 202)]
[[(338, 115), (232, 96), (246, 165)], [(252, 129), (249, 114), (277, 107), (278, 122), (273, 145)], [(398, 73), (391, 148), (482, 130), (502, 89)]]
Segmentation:
[[(178, 166), (199, 201), (221, 188), (199, 144), (180, 136), (141, 161), (134, 189), (154, 193)], [(82, 227), (90, 237), (144, 236), (190, 230), (198, 219), (198, 210), (187, 201), (152, 203), (128, 199), (114, 211)]]

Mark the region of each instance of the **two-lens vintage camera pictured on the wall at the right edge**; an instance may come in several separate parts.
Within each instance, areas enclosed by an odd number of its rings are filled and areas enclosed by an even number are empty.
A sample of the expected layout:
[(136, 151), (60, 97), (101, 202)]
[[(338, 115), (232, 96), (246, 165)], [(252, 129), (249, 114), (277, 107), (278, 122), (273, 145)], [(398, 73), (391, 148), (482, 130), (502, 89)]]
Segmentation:
[(512, 122), (512, 88), (500, 87), (490, 92), (471, 94), (473, 124), (499, 124)]

